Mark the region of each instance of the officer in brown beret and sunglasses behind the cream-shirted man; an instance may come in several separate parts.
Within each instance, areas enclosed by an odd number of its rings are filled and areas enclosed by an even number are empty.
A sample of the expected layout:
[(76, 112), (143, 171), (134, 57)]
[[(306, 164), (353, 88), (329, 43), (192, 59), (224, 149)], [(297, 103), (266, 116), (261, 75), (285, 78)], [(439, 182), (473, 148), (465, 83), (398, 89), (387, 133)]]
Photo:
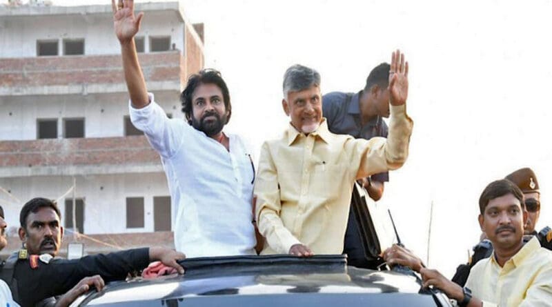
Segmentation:
[[(524, 226), (525, 237), (524, 241), (529, 241), (533, 235), (536, 235), (540, 241), (540, 245), (544, 248), (552, 250), (552, 231), (551, 228), (545, 227), (540, 232), (535, 231), (535, 225), (540, 215), (540, 190), (537, 176), (531, 168), (520, 168), (505, 179), (512, 181), (523, 192), (525, 209), (528, 213), (528, 218)], [(468, 264), (461, 264), (456, 268), (456, 273), (452, 279), (456, 284), (464, 286), (471, 268), (481, 259), (493, 255), (493, 245), (491, 241), (482, 238), (479, 244), (473, 247), (473, 256)]]

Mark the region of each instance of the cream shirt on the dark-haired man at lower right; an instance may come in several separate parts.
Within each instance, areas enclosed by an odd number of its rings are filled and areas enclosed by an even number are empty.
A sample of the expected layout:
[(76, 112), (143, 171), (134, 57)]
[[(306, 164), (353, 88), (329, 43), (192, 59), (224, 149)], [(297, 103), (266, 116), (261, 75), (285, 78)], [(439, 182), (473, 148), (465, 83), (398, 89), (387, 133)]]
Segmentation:
[(536, 237), (500, 267), (494, 255), (473, 268), (466, 281), (483, 306), (552, 306), (552, 251)]

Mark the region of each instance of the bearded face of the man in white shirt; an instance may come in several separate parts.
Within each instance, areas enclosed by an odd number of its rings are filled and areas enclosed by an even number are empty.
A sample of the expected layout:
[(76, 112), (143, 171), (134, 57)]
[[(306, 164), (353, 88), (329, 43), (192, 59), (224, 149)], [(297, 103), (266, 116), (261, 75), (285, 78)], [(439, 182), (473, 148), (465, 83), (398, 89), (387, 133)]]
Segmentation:
[(222, 131), (228, 112), (221, 89), (213, 83), (201, 83), (192, 97), (192, 126), (212, 137)]

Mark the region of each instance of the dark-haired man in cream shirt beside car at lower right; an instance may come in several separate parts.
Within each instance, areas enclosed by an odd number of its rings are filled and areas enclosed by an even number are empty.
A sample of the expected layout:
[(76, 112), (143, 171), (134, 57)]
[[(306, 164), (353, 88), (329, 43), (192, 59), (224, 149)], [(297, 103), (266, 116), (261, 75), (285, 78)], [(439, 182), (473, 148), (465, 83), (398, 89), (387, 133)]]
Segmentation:
[(508, 179), (491, 182), (479, 199), (481, 230), (494, 252), (471, 268), (462, 288), (437, 270), (424, 268), (420, 258), (400, 246), (384, 252), (387, 264), (420, 272), (424, 287), (439, 288), (464, 307), (552, 306), (552, 252), (537, 237), (524, 243), (527, 211), (522, 190)]

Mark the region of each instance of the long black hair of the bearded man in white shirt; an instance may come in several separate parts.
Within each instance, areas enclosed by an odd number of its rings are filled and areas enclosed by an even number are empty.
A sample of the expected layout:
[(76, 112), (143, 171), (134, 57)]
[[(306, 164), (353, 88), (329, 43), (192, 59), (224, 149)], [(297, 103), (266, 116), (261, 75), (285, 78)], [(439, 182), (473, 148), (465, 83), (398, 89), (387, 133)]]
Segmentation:
[(222, 92), (222, 99), (224, 99), (224, 106), (226, 107), (226, 112), (228, 112), (228, 117), (226, 117), (226, 123), (228, 123), (228, 121), (230, 121), (230, 115), (232, 115), (230, 93), (228, 92), (228, 87), (226, 86), (226, 82), (224, 82), (224, 79), (222, 79), (220, 72), (211, 68), (199, 70), (197, 74), (190, 75), (190, 77), (188, 77), (186, 88), (184, 88), (180, 95), (182, 112), (184, 112), (184, 114), (186, 115), (186, 120), (188, 121), (188, 123), (192, 122), (193, 95), (195, 89), (201, 84), (215, 84), (215, 86), (218, 86), (220, 88)]

